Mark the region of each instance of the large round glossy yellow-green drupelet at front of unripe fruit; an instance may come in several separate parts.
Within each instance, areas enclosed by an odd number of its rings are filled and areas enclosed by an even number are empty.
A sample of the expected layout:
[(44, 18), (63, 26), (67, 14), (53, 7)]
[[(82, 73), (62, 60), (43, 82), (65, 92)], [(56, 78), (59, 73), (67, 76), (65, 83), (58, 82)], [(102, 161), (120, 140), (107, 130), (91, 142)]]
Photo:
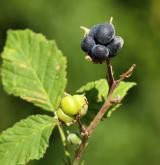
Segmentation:
[(73, 96), (65, 96), (61, 101), (61, 107), (67, 115), (76, 115), (79, 111), (79, 105)]

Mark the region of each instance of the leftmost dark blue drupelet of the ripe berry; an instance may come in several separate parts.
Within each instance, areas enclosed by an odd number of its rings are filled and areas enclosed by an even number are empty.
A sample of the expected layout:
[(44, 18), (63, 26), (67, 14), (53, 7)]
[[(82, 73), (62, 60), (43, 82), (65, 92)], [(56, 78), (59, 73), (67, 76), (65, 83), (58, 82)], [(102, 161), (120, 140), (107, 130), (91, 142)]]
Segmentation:
[(95, 44), (96, 43), (95, 43), (95, 41), (92, 37), (86, 36), (82, 40), (81, 48), (82, 48), (83, 51), (85, 51), (86, 53), (88, 53), (90, 55), (91, 50), (95, 46)]

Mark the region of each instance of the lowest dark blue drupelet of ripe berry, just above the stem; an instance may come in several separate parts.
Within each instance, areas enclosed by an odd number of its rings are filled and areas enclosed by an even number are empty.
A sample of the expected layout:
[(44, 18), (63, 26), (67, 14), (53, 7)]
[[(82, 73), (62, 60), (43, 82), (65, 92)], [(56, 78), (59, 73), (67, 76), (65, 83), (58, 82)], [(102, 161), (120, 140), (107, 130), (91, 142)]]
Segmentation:
[(109, 50), (106, 48), (106, 46), (95, 45), (92, 48), (91, 58), (93, 61), (102, 63), (108, 58), (108, 56), (109, 56)]

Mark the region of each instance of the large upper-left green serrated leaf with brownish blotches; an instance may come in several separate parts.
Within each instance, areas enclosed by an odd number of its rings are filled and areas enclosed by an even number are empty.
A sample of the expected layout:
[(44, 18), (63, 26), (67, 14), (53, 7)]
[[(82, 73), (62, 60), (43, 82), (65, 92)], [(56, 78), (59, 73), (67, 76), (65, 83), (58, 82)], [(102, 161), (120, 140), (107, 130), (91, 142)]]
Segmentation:
[(11, 30), (2, 53), (2, 83), (9, 94), (54, 111), (66, 87), (66, 59), (54, 41), (31, 30)]

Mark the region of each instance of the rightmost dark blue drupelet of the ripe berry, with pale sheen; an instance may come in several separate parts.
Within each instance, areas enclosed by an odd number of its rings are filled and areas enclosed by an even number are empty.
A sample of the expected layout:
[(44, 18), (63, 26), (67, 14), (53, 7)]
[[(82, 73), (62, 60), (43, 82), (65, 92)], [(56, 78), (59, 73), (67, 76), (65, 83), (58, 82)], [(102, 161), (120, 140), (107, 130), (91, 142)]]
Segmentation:
[(115, 36), (114, 39), (107, 45), (109, 57), (114, 57), (122, 49), (124, 40), (120, 36)]

